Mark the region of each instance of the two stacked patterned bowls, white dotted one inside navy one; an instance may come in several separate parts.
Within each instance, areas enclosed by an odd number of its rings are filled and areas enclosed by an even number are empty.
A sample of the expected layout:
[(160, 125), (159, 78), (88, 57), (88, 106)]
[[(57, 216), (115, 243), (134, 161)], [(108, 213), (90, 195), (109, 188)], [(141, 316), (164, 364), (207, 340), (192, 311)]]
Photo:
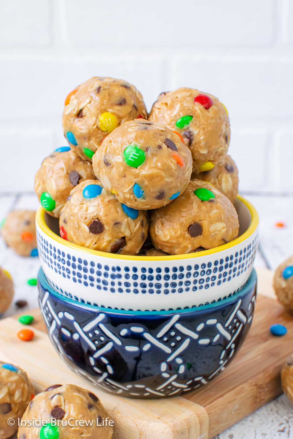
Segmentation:
[(250, 328), (258, 216), (238, 196), (239, 237), (211, 250), (127, 256), (72, 244), (36, 215), (40, 308), (67, 365), (134, 398), (180, 395), (223, 371)]

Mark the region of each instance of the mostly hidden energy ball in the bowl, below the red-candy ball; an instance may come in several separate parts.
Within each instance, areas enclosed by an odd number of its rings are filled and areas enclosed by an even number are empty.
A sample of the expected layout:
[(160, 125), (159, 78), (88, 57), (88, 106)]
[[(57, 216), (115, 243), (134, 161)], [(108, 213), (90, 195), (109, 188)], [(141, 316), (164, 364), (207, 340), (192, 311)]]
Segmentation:
[(232, 203), (238, 194), (238, 169), (230, 155), (225, 155), (223, 160), (213, 169), (200, 173), (192, 173), (192, 180), (203, 180), (219, 189)]

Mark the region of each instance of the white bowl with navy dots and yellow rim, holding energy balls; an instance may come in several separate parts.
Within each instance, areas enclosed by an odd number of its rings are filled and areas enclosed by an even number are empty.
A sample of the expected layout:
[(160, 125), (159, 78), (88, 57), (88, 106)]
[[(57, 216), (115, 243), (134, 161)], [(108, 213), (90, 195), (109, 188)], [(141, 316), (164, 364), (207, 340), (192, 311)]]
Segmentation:
[(58, 219), (40, 207), (36, 234), (41, 265), (52, 288), (89, 305), (159, 311), (214, 303), (246, 284), (257, 251), (257, 211), (240, 196), (235, 208), (240, 229), (234, 241), (188, 255), (147, 257), (98, 252), (65, 241)]

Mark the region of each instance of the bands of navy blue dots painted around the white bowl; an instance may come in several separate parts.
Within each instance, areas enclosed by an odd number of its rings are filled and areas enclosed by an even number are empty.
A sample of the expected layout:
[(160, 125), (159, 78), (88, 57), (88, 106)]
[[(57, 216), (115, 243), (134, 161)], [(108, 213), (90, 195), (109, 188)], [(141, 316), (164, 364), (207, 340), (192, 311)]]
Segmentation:
[[(164, 294), (172, 295), (184, 291), (197, 291), (212, 288), (215, 285), (221, 285), (229, 282), (234, 277), (240, 276), (248, 270), (253, 263), (257, 250), (258, 237), (244, 247), (239, 252), (235, 252), (225, 259), (216, 259), (213, 262), (192, 264), (188, 266), (171, 266), (165, 268), (137, 268), (135, 266), (121, 267), (119, 265), (101, 265), (95, 264), (89, 259), (76, 259), (75, 256), (61, 251), (57, 245), (52, 246), (47, 240), (40, 235), (37, 230), (37, 240), (40, 249), (40, 257), (58, 273), (60, 276), (70, 279), (74, 283), (83, 284), (83, 286), (103, 291), (110, 291), (113, 294), (123, 292), (134, 294)], [(195, 259), (196, 260), (196, 259)], [(117, 260), (117, 263), (119, 261)], [(176, 263), (176, 261), (174, 261)], [(180, 263), (180, 261), (179, 261)], [(82, 298), (72, 296), (72, 294), (62, 291), (48, 279), (53, 288), (69, 296), (71, 299), (85, 303)], [(238, 290), (231, 293), (235, 294)], [(228, 297), (229, 297), (228, 296)], [(226, 299), (227, 296), (221, 299)], [(218, 300), (221, 300), (218, 299)], [(212, 301), (212, 303), (215, 301)], [(90, 303), (89, 305), (107, 306), (101, 303)], [(199, 306), (208, 305), (209, 302)], [(195, 306), (195, 305), (194, 305)], [(186, 307), (187, 308), (187, 307)], [(171, 308), (170, 308), (171, 309)], [(178, 307), (177, 309), (181, 309)]]

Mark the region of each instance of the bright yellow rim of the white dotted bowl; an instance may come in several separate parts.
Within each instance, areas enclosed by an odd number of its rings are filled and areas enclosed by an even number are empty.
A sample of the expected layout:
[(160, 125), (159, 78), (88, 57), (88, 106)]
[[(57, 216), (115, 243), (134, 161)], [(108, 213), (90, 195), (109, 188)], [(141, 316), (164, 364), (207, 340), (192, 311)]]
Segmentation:
[(214, 253), (221, 252), (222, 250), (228, 250), (228, 248), (234, 247), (235, 245), (240, 244), (241, 242), (245, 241), (248, 237), (250, 237), (255, 230), (257, 230), (257, 226), (259, 223), (259, 217), (257, 210), (255, 207), (247, 201), (245, 198), (243, 198), (241, 195), (238, 195), (237, 198), (249, 209), (251, 214), (251, 223), (248, 229), (240, 235), (238, 238), (234, 239), (231, 242), (228, 242), (227, 244), (220, 245), (219, 247), (211, 248), (210, 250), (204, 250), (203, 252), (197, 252), (197, 253), (187, 253), (185, 255), (168, 255), (168, 256), (130, 256), (130, 255), (117, 255), (114, 253), (106, 253), (106, 252), (100, 252), (98, 250), (92, 250), (90, 248), (81, 247), (80, 245), (73, 244), (72, 242), (65, 241), (65, 239), (62, 239), (58, 235), (56, 235), (52, 230), (47, 226), (45, 222), (45, 213), (46, 210), (43, 209), (42, 206), (39, 207), (39, 209), (36, 212), (36, 223), (40, 227), (40, 229), (43, 231), (44, 234), (46, 234), (48, 237), (53, 239), (53, 241), (58, 242), (61, 245), (64, 245), (65, 247), (72, 248), (74, 250), (78, 250), (83, 253), (87, 253), (89, 255), (95, 255), (95, 256), (101, 256), (104, 258), (112, 258), (112, 259), (123, 259), (128, 261), (170, 261), (174, 259), (192, 259), (192, 258), (198, 258), (201, 256), (206, 255), (212, 255)]

